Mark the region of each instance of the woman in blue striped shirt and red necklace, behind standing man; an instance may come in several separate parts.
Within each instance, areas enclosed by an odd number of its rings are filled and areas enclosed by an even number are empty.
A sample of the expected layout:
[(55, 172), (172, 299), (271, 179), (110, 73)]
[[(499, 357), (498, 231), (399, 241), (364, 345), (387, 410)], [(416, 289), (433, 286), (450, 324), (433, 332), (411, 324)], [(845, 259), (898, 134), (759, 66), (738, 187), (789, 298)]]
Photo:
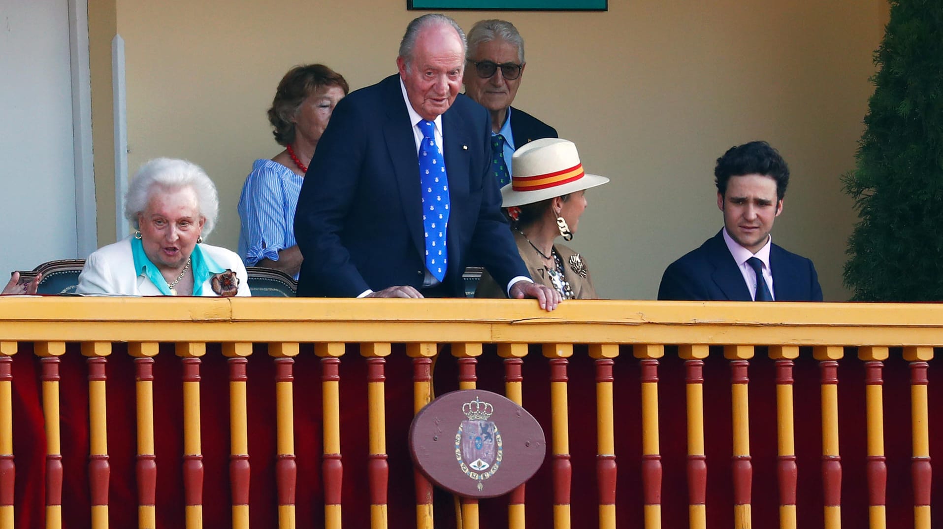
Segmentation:
[(242, 186), (239, 255), (246, 266), (298, 278), (302, 256), (293, 229), (298, 193), (331, 112), (349, 90), (343, 75), (323, 64), (296, 66), (278, 83), (269, 122), (285, 150), (256, 159)]

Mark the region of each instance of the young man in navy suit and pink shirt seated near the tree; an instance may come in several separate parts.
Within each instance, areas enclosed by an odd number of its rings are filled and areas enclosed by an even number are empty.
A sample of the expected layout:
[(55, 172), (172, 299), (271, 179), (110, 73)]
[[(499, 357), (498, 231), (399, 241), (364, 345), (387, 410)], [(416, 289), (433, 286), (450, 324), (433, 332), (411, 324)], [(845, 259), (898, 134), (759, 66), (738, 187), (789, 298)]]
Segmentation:
[(732, 147), (717, 160), (717, 207), (723, 228), (670, 264), (660, 300), (822, 301), (812, 261), (773, 244), (783, 212), (786, 160), (766, 141)]

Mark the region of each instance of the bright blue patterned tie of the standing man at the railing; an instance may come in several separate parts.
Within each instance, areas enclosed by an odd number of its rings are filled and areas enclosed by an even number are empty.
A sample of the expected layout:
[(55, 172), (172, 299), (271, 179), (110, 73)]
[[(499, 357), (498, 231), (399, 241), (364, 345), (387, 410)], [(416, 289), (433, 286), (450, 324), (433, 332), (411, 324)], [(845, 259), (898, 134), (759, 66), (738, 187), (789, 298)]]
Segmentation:
[(445, 233), (449, 225), (449, 178), (442, 149), (436, 144), (436, 125), (422, 120), (419, 174), (422, 183), (422, 227), (425, 228), (425, 268), (439, 281), (448, 269)]

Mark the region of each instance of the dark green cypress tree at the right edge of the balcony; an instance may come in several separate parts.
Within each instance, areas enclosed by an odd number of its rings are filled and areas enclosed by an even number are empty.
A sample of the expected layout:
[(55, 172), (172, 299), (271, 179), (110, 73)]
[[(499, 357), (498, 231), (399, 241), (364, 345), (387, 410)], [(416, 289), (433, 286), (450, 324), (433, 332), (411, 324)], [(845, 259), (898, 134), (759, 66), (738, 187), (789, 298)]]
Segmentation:
[(855, 301), (943, 300), (943, 0), (891, 0), (855, 170)]

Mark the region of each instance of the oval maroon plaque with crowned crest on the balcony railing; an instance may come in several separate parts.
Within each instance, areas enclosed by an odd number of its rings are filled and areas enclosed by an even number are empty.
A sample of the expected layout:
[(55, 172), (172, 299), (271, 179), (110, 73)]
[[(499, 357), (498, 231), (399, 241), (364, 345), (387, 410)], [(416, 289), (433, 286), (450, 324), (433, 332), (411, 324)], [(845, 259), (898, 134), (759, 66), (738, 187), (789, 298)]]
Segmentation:
[(547, 453), (543, 429), (527, 410), (491, 391), (446, 393), (409, 428), (420, 471), (461, 496), (501, 496), (530, 479)]

